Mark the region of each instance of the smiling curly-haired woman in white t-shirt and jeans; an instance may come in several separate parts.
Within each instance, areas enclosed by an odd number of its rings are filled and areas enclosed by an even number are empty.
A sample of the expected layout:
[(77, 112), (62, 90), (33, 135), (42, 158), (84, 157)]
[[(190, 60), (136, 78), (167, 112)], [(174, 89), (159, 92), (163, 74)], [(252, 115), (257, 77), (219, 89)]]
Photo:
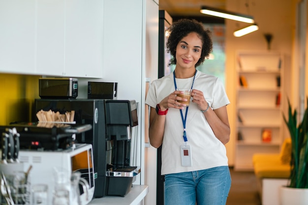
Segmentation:
[[(166, 48), (175, 70), (155, 80), (146, 99), (150, 143), (162, 145), (165, 205), (225, 205), (231, 186), (224, 146), (230, 138), (230, 102), (218, 78), (196, 70), (212, 52), (211, 32), (182, 19), (169, 33)], [(176, 88), (192, 89), (188, 107), (178, 102), (186, 99)]]

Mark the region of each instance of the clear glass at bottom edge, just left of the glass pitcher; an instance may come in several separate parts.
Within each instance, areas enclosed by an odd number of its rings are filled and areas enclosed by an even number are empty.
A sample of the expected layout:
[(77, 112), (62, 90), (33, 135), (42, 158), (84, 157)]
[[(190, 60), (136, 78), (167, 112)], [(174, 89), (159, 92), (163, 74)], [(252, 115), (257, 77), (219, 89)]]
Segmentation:
[(48, 185), (33, 184), (31, 187), (32, 204), (31, 205), (47, 205), (48, 204)]

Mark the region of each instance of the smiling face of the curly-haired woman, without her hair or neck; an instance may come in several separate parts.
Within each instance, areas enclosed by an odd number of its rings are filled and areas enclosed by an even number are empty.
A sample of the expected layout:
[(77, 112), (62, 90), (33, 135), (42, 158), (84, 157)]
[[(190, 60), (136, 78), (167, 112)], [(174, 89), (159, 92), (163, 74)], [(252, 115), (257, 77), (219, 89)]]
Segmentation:
[(177, 68), (195, 69), (195, 64), (201, 57), (202, 41), (197, 33), (188, 33), (177, 45)]

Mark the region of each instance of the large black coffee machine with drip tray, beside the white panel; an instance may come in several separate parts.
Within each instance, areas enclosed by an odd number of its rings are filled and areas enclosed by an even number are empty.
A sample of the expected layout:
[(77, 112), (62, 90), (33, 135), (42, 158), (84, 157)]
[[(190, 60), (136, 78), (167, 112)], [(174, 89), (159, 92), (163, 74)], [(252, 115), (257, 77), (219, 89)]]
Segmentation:
[(77, 134), (76, 140), (93, 146), (95, 198), (125, 196), (130, 191), (140, 173), (140, 167), (130, 163), (131, 149), (136, 149), (131, 132), (138, 125), (135, 100), (35, 99), (35, 114), (40, 110), (75, 111), (76, 123), (92, 125), (92, 130)]

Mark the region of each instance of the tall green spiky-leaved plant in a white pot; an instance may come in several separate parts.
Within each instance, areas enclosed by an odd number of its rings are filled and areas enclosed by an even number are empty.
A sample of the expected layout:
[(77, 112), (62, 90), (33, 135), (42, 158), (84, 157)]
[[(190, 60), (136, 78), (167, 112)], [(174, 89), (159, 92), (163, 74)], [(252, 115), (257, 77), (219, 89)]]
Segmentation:
[[(308, 108), (305, 110), (302, 121), (298, 123), (297, 110), (295, 109), (292, 113), (289, 99), (288, 106), (289, 118), (287, 120), (283, 115), (283, 119), (292, 142), (291, 174), (288, 185), (280, 189), (281, 205), (308, 205)], [(300, 195), (297, 195), (298, 193)]]

